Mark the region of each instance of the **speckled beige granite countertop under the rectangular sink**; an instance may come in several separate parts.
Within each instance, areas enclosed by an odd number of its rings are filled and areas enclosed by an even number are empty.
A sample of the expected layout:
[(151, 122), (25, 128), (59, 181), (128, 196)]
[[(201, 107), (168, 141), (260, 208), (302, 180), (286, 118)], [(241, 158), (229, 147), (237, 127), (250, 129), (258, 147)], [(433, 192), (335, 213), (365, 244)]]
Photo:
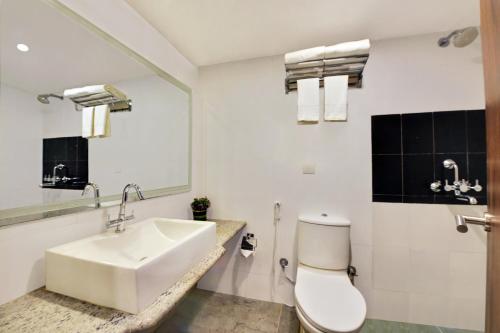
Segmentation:
[(0, 332), (137, 332), (153, 330), (225, 252), (245, 222), (214, 220), (217, 246), (169, 290), (136, 315), (40, 288), (0, 306)]

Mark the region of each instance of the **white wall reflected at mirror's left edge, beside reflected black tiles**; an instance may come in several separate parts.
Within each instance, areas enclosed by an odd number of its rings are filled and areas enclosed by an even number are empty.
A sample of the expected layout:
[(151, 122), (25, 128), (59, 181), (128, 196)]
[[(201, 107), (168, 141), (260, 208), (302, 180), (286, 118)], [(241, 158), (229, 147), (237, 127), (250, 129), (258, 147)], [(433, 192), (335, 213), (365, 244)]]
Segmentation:
[(43, 108), (34, 94), (9, 85), (0, 85), (0, 97), (0, 209), (39, 203)]

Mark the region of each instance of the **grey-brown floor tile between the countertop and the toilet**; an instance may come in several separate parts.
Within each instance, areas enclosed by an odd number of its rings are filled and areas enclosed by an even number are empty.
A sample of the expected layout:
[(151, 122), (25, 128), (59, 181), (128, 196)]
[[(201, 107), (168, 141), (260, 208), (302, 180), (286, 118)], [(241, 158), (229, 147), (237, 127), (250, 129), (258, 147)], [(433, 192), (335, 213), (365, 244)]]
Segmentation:
[(275, 333), (281, 304), (194, 289), (158, 333)]

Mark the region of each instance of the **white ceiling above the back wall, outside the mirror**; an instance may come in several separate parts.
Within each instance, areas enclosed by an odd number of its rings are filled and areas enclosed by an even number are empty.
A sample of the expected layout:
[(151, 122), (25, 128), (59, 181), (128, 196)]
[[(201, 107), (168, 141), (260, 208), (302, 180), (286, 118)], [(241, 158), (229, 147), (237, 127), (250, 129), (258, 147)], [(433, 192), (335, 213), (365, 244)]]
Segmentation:
[(196, 65), (479, 25), (479, 0), (126, 0)]

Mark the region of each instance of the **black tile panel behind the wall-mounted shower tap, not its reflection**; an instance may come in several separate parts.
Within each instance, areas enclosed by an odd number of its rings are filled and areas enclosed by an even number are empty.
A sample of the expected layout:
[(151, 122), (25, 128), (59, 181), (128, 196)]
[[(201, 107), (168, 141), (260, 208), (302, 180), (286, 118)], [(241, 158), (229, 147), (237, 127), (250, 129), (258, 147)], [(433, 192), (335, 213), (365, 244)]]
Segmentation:
[(486, 131), (484, 110), (372, 116), (372, 187), (375, 202), (463, 204), (450, 192), (434, 193), (433, 181), (453, 182), (445, 159), (457, 162), (460, 178), (481, 192), (486, 204)]

